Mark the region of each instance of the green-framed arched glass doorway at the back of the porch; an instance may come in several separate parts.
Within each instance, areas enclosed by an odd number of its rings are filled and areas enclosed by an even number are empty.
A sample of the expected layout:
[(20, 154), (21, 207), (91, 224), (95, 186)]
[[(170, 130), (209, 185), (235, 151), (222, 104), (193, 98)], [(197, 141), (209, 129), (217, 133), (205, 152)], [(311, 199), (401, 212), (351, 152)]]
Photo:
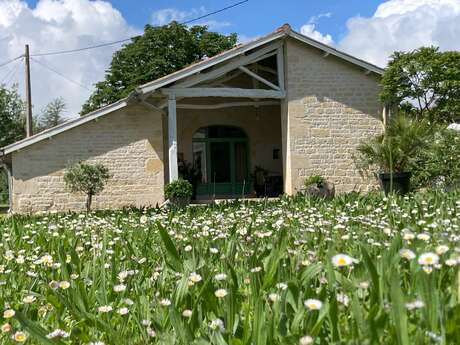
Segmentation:
[(243, 196), (250, 190), (246, 133), (238, 127), (209, 126), (193, 135), (193, 165), (199, 172), (197, 198)]

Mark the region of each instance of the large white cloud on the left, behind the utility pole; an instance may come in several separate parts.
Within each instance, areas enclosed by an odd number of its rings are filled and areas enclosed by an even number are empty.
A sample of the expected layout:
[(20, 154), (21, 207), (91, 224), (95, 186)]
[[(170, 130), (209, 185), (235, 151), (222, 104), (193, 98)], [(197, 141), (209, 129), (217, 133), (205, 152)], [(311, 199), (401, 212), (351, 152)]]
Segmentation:
[[(110, 42), (138, 33), (108, 1), (39, 0), (31, 8), (24, 0), (0, 0), (0, 62), (23, 54), (26, 43), (33, 55)], [(104, 78), (112, 54), (119, 46), (35, 59), (92, 89), (95, 82)], [(14, 64), (1, 68), (0, 81), (8, 69), (13, 72), (15, 68)], [(53, 98), (62, 96), (68, 105), (67, 116), (77, 116), (81, 104), (91, 92), (33, 60), (31, 69), (34, 113)], [(19, 82), (22, 90), (23, 67), (19, 66), (15, 78), (10, 79)]]

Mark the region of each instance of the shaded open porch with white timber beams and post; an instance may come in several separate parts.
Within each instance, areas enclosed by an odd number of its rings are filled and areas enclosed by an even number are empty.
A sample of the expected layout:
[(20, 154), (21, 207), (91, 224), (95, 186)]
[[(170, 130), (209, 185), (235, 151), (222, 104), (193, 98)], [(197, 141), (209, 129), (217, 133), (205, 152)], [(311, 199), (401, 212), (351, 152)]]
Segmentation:
[(284, 54), (282, 40), (249, 47), (151, 92), (144, 87), (142, 102), (163, 113), (168, 133), (165, 183), (189, 180), (196, 200), (284, 192)]

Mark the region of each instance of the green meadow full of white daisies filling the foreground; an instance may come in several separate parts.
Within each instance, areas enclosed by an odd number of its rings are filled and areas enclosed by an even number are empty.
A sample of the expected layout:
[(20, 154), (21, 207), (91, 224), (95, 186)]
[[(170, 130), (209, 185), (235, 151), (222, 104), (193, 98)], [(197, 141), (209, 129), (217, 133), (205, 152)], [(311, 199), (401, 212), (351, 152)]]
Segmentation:
[(460, 194), (0, 220), (1, 344), (460, 344)]

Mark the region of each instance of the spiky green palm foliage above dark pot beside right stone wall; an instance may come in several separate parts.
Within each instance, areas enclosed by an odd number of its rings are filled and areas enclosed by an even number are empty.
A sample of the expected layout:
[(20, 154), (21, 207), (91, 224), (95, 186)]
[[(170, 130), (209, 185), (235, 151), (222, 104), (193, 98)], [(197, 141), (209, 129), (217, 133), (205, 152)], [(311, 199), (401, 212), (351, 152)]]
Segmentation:
[(397, 115), (384, 134), (358, 146), (358, 167), (363, 171), (376, 168), (378, 172), (406, 172), (417, 152), (426, 146), (428, 129), (423, 121)]

